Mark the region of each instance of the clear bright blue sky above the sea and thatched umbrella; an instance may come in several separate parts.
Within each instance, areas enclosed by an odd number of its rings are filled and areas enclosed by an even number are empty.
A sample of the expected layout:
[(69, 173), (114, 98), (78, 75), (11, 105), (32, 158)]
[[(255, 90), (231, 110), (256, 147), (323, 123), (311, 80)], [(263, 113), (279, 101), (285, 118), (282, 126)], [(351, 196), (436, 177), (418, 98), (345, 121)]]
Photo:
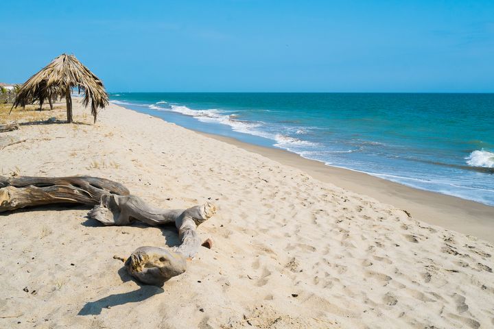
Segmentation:
[(494, 92), (494, 1), (8, 1), (0, 82), (73, 53), (110, 92)]

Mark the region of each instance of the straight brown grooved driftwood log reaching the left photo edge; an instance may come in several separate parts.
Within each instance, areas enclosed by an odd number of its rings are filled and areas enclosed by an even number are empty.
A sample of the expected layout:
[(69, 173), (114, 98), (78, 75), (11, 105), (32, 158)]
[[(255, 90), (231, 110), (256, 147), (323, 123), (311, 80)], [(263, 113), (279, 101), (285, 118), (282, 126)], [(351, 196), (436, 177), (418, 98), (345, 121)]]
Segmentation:
[(45, 204), (99, 204), (108, 193), (128, 195), (117, 182), (89, 176), (12, 177), (0, 176), (0, 212)]

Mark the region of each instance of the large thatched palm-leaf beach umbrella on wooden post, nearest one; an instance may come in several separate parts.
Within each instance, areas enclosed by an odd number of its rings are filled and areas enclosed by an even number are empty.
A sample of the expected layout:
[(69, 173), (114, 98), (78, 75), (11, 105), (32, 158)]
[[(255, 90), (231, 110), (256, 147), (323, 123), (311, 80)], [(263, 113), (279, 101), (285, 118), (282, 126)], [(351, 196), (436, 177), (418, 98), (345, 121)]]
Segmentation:
[(96, 122), (98, 108), (108, 105), (108, 94), (99, 78), (73, 55), (62, 53), (38, 73), (30, 77), (19, 89), (14, 105), (26, 106), (34, 101), (43, 104), (54, 97), (65, 97), (67, 101), (67, 122), (72, 122), (72, 88), (84, 90), (82, 103), (91, 103), (91, 114)]

